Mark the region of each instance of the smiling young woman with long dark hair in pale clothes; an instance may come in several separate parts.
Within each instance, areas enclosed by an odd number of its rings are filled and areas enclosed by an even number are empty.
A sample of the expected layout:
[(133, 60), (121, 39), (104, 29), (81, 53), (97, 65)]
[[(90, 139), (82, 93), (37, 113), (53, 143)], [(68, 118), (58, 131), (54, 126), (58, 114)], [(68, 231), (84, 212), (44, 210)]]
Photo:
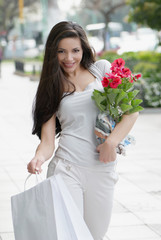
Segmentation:
[(111, 217), (116, 146), (138, 116), (124, 115), (108, 139), (97, 146), (98, 108), (91, 96), (94, 89), (103, 90), (101, 80), (109, 71), (107, 60), (95, 61), (81, 26), (60, 22), (52, 28), (33, 112), (33, 134), (41, 141), (28, 164), (30, 173), (41, 172), (41, 165), (54, 152), (55, 135), (60, 135), (47, 175), (62, 175), (94, 240), (103, 239)]

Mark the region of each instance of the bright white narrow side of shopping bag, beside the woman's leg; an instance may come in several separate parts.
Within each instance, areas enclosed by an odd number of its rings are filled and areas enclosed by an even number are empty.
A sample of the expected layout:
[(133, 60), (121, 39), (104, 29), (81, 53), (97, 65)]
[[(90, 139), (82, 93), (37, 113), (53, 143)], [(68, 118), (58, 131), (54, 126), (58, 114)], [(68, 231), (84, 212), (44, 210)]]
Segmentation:
[[(51, 185), (58, 239), (93, 240), (93, 237), (62, 178), (60, 175), (56, 175), (55, 178), (56, 181), (51, 178)], [(60, 209), (62, 214), (60, 214)], [(62, 216), (64, 216), (64, 223), (62, 222)], [(63, 226), (70, 234), (68, 238), (66, 237), (67, 235), (65, 236), (66, 231), (62, 231)]]

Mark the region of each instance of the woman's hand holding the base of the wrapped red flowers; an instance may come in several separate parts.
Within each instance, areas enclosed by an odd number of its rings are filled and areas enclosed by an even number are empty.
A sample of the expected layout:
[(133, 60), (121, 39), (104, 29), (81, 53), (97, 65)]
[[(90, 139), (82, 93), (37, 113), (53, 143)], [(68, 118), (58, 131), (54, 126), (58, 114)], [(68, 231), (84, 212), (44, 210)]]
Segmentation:
[(116, 146), (108, 140), (98, 145), (97, 151), (100, 153), (101, 162), (108, 163), (116, 160)]

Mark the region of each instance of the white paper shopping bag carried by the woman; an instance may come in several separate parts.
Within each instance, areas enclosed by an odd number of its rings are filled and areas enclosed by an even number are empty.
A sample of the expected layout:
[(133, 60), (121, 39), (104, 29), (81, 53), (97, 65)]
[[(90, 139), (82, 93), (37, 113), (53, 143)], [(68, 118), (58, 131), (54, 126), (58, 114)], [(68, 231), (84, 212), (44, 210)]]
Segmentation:
[(15, 240), (93, 240), (60, 175), (11, 197)]

